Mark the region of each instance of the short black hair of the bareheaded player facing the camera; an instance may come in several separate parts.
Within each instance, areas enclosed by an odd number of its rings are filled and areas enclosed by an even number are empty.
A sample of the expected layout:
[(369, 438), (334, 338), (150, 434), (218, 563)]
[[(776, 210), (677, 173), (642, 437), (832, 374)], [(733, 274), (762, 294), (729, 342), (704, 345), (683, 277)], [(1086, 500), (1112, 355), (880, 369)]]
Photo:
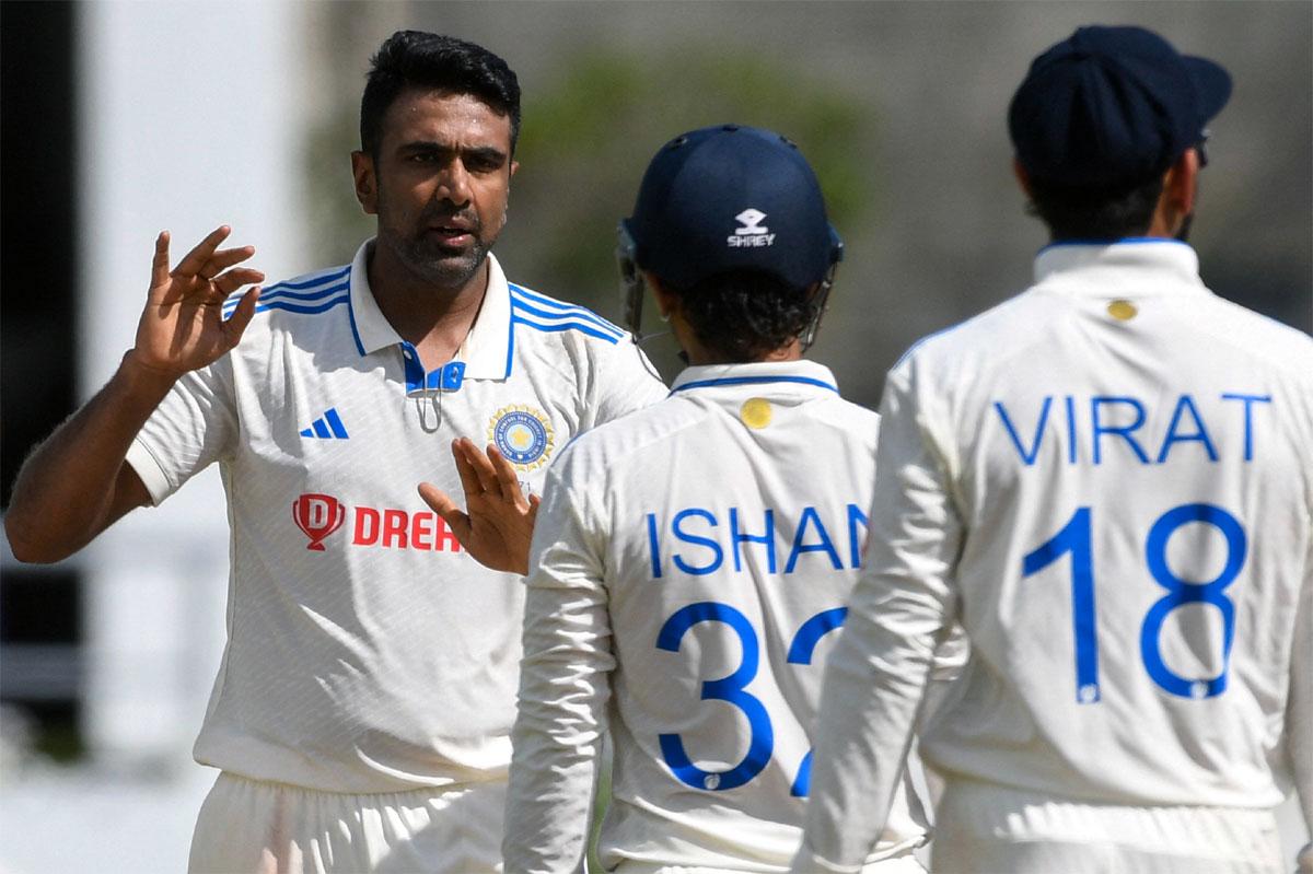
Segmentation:
[(502, 58), (473, 42), (423, 30), (398, 30), (372, 59), (360, 100), (360, 147), (378, 160), (383, 115), (407, 87), (471, 94), (511, 117), (511, 154), (520, 138), (520, 81)]

